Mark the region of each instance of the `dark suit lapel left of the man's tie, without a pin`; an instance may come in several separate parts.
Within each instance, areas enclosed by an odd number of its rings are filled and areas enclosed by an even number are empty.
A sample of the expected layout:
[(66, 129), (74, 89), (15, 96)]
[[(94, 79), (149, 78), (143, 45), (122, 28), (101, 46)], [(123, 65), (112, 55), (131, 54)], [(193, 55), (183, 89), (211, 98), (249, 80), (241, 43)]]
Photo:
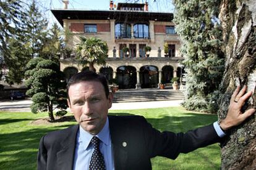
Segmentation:
[(57, 153), (57, 163), (59, 169), (73, 169), (75, 141), (77, 138), (77, 130), (79, 125), (72, 126), (67, 132), (66, 138), (61, 142), (62, 150)]

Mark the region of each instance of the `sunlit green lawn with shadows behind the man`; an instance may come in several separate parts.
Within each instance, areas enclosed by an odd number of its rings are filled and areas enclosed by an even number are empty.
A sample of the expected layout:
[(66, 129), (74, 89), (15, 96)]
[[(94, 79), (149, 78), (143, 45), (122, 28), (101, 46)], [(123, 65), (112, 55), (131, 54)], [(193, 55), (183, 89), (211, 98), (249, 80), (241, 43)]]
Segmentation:
[[(111, 110), (111, 115), (143, 115), (160, 131), (186, 132), (213, 123), (216, 115), (198, 114), (181, 107)], [(35, 125), (30, 122), (46, 117), (46, 113), (10, 113), (0, 111), (0, 169), (36, 169), (36, 154), (41, 136), (63, 129), (75, 121)], [(156, 157), (153, 169), (220, 169), (218, 144), (181, 154), (176, 160)]]

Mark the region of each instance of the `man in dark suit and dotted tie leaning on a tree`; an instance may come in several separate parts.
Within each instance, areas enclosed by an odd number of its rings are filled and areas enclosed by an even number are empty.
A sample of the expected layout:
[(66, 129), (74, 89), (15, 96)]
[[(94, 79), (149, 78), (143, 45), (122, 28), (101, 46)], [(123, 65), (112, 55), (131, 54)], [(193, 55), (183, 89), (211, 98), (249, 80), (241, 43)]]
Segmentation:
[(113, 94), (105, 77), (92, 71), (77, 73), (67, 84), (67, 94), (79, 124), (42, 137), (38, 169), (151, 169), (150, 158), (175, 159), (179, 153), (218, 142), (223, 131), (252, 115), (254, 109), (241, 113), (252, 95), (245, 91), (237, 87), (220, 124), (175, 134), (154, 129), (142, 116), (108, 116)]

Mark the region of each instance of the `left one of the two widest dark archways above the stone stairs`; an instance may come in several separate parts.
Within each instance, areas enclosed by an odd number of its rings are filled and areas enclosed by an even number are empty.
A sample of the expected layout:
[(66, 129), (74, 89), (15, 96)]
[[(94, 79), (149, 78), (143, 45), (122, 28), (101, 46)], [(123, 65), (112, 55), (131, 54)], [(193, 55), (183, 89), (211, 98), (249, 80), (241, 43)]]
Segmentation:
[(117, 81), (119, 89), (135, 89), (137, 83), (136, 68), (132, 66), (121, 66), (117, 68)]

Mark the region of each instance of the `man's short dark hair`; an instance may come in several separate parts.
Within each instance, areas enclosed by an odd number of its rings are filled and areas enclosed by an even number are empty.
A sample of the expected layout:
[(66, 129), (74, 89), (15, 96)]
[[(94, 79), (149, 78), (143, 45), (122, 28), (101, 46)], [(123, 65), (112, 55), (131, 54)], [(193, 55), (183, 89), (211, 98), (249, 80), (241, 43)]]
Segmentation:
[(82, 71), (80, 73), (76, 73), (72, 78), (69, 79), (67, 83), (67, 99), (69, 99), (69, 87), (72, 84), (77, 84), (82, 81), (98, 81), (100, 82), (105, 90), (106, 98), (108, 99), (109, 89), (108, 89), (108, 81), (103, 75), (98, 75), (94, 71)]

